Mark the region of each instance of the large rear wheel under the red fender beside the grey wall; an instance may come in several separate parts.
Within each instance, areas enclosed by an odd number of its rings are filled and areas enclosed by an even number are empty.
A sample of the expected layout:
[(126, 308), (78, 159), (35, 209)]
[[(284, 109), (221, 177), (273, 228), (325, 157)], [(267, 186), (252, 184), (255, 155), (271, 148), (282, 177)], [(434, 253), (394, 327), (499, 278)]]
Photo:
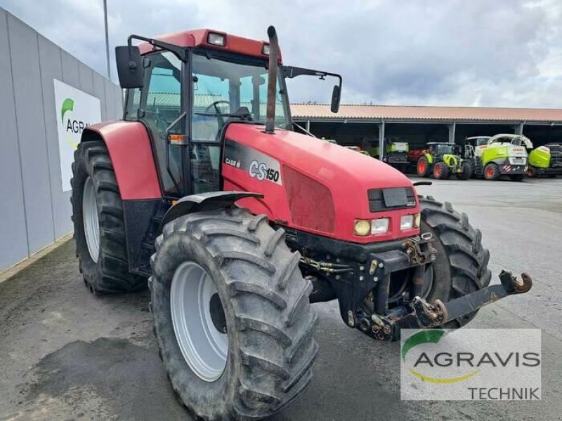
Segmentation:
[(123, 205), (103, 141), (78, 145), (72, 174), (74, 239), (86, 286), (92, 293), (145, 288), (145, 278), (129, 273)]

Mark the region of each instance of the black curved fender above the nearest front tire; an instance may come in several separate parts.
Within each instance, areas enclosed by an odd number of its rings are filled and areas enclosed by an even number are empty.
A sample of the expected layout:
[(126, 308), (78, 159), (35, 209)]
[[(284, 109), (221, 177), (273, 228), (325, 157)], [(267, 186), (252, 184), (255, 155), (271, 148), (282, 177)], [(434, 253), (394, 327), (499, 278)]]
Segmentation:
[(204, 210), (230, 208), (234, 205), (235, 201), (247, 197), (262, 199), (263, 194), (252, 192), (208, 192), (182, 197), (174, 206), (169, 208), (164, 218), (162, 218), (158, 234), (162, 234), (164, 225), (180, 216)]

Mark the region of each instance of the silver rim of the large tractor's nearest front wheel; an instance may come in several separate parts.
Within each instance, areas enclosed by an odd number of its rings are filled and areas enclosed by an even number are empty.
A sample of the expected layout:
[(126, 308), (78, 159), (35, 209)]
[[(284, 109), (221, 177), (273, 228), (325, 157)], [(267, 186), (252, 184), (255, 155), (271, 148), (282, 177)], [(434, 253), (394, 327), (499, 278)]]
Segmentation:
[(197, 377), (214, 382), (226, 367), (228, 334), (216, 286), (205, 269), (195, 262), (178, 266), (171, 281), (170, 307), (183, 358)]

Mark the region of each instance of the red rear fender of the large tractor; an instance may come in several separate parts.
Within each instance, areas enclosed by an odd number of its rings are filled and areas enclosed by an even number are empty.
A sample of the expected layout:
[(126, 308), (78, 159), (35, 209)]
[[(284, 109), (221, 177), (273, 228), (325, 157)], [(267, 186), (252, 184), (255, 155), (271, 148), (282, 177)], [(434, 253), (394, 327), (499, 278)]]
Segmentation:
[(88, 126), (80, 142), (103, 140), (110, 153), (122, 200), (160, 199), (150, 137), (138, 121), (109, 121)]

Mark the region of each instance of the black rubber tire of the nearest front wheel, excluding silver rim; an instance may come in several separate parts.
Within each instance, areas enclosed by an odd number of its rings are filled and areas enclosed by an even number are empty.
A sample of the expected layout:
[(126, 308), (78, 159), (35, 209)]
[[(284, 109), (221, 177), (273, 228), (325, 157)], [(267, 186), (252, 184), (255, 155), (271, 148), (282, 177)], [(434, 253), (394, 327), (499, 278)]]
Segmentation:
[[(212, 210), (166, 224), (156, 250), (149, 280), (155, 333), (185, 406), (204, 420), (249, 420), (298, 396), (312, 378), (317, 316), (308, 300), (312, 283), (303, 279), (300, 255), (287, 248), (285, 232), (274, 231), (264, 215)], [(170, 291), (185, 262), (209, 274), (222, 304), (228, 356), (216, 380), (197, 375), (174, 328)]]

